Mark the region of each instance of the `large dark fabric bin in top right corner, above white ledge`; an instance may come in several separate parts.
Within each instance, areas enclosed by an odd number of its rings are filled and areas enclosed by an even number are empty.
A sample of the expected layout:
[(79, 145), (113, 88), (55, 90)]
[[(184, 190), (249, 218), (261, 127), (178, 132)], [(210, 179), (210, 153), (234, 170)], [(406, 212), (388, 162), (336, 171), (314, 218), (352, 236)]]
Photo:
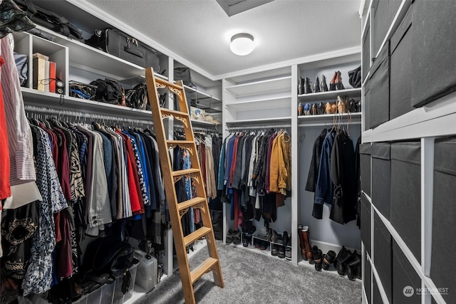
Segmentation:
[(413, 4), (412, 105), (420, 107), (456, 90), (456, 1)]

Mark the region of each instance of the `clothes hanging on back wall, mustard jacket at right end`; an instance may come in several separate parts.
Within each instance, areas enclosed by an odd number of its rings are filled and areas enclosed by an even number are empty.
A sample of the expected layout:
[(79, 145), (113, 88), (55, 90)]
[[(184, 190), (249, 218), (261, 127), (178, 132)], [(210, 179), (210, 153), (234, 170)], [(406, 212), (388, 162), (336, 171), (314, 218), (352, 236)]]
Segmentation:
[(291, 136), (270, 126), (235, 130), (244, 132), (232, 132), (224, 139), (217, 187), (224, 190), (224, 201), (231, 203), (234, 230), (241, 226), (247, 231), (254, 218), (276, 221), (276, 208), (284, 206), (291, 193)]

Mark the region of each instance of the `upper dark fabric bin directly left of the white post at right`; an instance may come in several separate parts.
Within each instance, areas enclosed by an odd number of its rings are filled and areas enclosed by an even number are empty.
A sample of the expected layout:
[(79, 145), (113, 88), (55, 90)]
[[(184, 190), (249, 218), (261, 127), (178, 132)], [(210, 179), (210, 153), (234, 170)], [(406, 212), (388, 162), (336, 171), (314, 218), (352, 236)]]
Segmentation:
[(391, 145), (391, 224), (421, 261), (421, 144)]

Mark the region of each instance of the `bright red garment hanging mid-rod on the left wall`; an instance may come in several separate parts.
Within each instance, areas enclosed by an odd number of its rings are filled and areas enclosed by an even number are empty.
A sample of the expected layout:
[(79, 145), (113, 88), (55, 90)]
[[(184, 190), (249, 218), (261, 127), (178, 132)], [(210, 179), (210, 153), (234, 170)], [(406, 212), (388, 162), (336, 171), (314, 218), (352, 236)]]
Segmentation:
[(144, 213), (144, 201), (142, 201), (142, 193), (140, 188), (140, 181), (138, 177), (138, 167), (136, 167), (135, 152), (133, 152), (133, 145), (130, 142), (130, 137), (123, 134), (120, 129), (115, 132), (123, 137), (125, 147), (127, 148), (127, 167), (128, 167), (128, 192), (130, 192), (131, 211), (133, 214)]

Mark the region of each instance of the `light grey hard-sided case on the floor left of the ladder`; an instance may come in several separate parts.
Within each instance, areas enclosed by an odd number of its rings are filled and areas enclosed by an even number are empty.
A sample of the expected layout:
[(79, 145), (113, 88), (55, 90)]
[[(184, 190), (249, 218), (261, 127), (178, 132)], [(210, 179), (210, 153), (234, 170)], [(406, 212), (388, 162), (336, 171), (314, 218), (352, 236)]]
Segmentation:
[(152, 290), (157, 284), (157, 259), (139, 249), (135, 249), (135, 258), (140, 261), (136, 271), (136, 285)]

